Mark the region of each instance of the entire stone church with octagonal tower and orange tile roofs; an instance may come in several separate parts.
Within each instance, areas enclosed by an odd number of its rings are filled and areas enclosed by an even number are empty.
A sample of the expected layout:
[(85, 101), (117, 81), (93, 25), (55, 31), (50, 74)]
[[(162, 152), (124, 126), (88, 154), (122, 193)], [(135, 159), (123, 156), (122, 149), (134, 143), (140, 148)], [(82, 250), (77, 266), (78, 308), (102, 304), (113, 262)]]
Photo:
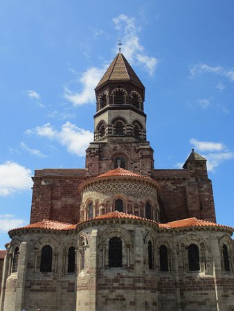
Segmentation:
[(206, 159), (154, 168), (145, 87), (121, 52), (95, 92), (85, 168), (35, 170), (0, 311), (233, 311), (234, 229), (216, 223)]

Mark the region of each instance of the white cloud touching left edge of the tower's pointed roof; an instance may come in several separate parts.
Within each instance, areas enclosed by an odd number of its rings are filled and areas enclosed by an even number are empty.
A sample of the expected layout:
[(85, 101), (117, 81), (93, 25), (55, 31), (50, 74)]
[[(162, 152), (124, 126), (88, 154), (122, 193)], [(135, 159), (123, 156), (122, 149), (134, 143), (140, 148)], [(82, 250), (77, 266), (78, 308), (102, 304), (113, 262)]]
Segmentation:
[(106, 66), (102, 68), (91, 67), (85, 71), (79, 79), (79, 82), (82, 84), (82, 91), (80, 91), (80, 93), (71, 91), (68, 87), (64, 87), (64, 97), (66, 100), (69, 100), (73, 106), (81, 106), (83, 104), (95, 102), (96, 97), (93, 90), (96, 88), (106, 69)]

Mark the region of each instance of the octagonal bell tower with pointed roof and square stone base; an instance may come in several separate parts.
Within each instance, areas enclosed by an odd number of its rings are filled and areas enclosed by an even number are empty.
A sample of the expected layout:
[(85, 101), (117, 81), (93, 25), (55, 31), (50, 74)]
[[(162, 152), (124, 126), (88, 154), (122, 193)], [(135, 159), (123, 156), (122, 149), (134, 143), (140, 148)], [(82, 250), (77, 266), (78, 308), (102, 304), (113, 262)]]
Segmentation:
[(145, 86), (118, 53), (96, 86), (94, 142), (86, 167), (97, 176), (118, 166), (151, 176), (153, 151), (146, 140)]

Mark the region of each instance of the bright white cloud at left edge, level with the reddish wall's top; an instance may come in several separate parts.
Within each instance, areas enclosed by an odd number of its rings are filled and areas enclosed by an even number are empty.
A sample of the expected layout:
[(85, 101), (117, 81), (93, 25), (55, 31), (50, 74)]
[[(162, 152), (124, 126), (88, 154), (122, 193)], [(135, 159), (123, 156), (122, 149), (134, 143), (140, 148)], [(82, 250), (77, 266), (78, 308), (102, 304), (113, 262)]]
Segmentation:
[(0, 164), (0, 196), (30, 189), (33, 185), (31, 174), (30, 169), (15, 162)]

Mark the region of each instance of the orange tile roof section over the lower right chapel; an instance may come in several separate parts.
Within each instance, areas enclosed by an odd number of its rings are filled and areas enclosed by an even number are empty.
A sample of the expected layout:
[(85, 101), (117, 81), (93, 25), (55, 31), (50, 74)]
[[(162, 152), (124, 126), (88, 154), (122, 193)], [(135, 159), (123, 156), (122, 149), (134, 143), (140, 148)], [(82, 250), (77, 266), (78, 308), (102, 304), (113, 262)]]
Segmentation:
[(171, 228), (183, 228), (183, 227), (226, 227), (226, 228), (233, 229), (232, 227), (228, 227), (228, 226), (224, 226), (224, 225), (219, 225), (217, 223), (213, 223), (213, 222), (207, 221), (207, 220), (197, 219), (196, 217), (186, 218), (186, 219), (181, 219), (181, 220), (176, 220), (176, 221), (171, 221), (170, 223), (167, 223), (165, 225), (168, 225), (168, 227), (171, 227)]

